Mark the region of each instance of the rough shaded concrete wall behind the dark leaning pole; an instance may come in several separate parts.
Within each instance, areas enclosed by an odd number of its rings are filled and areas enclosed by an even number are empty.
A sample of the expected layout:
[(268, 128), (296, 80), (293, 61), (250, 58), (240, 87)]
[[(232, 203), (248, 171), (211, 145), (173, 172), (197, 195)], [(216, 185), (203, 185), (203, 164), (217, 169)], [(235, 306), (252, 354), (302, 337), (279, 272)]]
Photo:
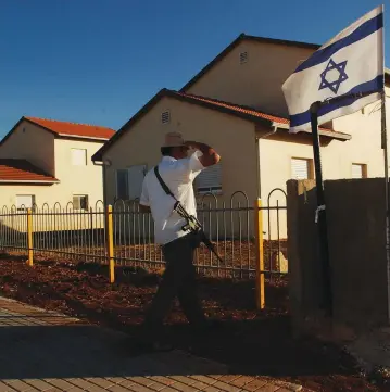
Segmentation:
[[(295, 326), (318, 312), (322, 298), (313, 181), (288, 182), (288, 249)], [(325, 182), (334, 321), (354, 330), (388, 317), (385, 182)]]

